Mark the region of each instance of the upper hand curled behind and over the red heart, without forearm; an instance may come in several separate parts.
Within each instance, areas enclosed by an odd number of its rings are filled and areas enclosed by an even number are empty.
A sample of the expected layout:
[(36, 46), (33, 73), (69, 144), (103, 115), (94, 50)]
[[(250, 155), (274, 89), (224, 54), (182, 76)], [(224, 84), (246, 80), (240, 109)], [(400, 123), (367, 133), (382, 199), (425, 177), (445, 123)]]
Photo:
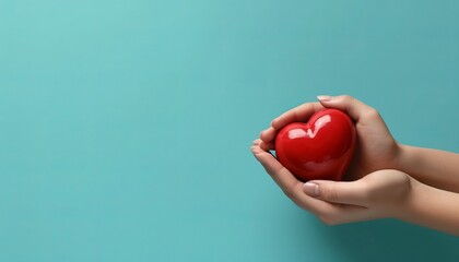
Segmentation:
[(260, 148), (275, 150), (276, 133), (291, 122), (306, 122), (313, 114), (327, 108), (346, 112), (354, 121), (357, 146), (345, 180), (356, 180), (380, 169), (400, 169), (401, 146), (390, 134), (379, 112), (351, 96), (319, 96), (319, 103), (307, 103), (275, 118), (271, 127), (260, 134)]

